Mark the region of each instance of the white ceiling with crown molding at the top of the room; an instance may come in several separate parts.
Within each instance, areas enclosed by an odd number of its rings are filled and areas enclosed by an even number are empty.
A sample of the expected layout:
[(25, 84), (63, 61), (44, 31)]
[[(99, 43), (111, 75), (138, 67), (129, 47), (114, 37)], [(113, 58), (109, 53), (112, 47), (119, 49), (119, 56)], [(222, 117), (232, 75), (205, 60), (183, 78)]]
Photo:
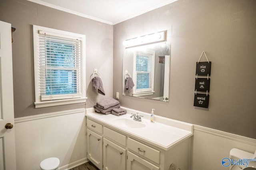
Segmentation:
[(176, 0), (28, 0), (114, 25)]

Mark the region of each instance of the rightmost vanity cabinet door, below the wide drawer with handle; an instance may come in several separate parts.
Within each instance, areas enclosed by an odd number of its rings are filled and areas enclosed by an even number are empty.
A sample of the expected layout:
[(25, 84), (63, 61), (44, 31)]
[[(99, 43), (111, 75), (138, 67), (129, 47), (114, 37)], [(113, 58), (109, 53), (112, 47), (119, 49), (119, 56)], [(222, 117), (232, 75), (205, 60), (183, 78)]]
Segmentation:
[(158, 166), (155, 166), (131, 152), (128, 152), (127, 155), (127, 170), (160, 170)]

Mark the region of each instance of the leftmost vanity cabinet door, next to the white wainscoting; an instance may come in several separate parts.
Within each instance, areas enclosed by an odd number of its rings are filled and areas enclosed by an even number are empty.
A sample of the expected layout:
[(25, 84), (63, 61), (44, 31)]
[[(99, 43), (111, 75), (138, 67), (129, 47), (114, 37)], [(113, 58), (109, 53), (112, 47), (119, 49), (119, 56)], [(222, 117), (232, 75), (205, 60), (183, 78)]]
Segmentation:
[(102, 136), (87, 129), (87, 158), (102, 170)]

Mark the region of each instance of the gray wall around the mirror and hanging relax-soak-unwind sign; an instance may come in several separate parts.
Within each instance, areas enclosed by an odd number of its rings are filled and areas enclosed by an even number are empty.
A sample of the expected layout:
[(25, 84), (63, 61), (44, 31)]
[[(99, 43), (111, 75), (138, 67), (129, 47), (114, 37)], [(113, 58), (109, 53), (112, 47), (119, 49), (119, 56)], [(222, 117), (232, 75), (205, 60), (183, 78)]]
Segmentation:
[[(121, 105), (256, 139), (255, 9), (255, 0), (178, 0), (114, 25), (113, 96), (122, 92), (122, 41), (172, 28), (169, 102), (120, 96)], [(212, 61), (208, 109), (193, 106), (202, 51)]]

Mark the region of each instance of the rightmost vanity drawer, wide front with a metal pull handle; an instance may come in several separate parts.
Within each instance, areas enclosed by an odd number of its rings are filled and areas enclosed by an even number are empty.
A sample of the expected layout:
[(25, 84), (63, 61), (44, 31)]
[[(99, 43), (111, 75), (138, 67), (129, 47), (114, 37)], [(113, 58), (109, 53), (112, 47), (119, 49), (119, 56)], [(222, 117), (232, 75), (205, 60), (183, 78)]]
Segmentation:
[(135, 141), (131, 138), (128, 138), (128, 149), (133, 150), (134, 152), (145, 156), (146, 158), (156, 162), (157, 164), (160, 164), (160, 151), (153, 149), (147, 145), (144, 145), (143, 143), (140, 143), (138, 141)]

